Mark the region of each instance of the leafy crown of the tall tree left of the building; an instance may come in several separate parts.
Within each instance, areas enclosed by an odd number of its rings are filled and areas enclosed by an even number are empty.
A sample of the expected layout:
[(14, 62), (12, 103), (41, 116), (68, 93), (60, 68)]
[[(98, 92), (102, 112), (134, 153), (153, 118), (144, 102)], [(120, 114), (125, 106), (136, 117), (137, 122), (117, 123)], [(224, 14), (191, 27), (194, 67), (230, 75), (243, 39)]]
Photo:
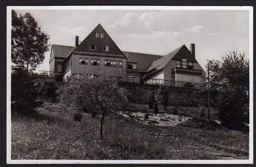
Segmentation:
[(49, 36), (41, 31), (30, 13), (17, 16), (12, 10), (11, 58), (15, 65), (34, 69), (49, 51)]

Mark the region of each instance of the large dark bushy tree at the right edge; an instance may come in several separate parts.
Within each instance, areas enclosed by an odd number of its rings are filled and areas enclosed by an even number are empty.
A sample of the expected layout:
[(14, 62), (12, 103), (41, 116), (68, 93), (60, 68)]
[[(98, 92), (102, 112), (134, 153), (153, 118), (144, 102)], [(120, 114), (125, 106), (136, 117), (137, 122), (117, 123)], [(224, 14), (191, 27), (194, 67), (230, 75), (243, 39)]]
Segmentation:
[(222, 61), (208, 60), (208, 64), (209, 88), (217, 92), (216, 106), (222, 123), (239, 129), (243, 126), (245, 106), (249, 103), (249, 62), (244, 53), (232, 52), (222, 57)]

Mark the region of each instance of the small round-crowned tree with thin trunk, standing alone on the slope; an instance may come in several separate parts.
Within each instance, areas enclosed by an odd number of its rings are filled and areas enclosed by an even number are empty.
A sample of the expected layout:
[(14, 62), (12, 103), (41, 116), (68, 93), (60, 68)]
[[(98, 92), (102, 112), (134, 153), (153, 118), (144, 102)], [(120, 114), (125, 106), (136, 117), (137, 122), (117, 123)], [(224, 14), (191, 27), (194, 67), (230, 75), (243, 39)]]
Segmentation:
[(119, 87), (116, 82), (110, 82), (108, 78), (73, 77), (61, 90), (60, 101), (79, 106), (81, 111), (99, 116), (102, 140), (104, 118), (109, 113), (118, 112), (126, 107), (126, 94), (125, 89)]

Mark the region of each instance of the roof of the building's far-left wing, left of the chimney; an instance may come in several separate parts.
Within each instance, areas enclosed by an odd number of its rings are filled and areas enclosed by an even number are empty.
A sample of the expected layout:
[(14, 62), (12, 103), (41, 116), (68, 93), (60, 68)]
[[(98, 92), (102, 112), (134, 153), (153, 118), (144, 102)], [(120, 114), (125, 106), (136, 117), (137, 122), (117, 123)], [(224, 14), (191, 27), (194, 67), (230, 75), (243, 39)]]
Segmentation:
[(74, 49), (75, 47), (73, 46), (52, 44), (52, 52), (54, 57), (67, 58)]

